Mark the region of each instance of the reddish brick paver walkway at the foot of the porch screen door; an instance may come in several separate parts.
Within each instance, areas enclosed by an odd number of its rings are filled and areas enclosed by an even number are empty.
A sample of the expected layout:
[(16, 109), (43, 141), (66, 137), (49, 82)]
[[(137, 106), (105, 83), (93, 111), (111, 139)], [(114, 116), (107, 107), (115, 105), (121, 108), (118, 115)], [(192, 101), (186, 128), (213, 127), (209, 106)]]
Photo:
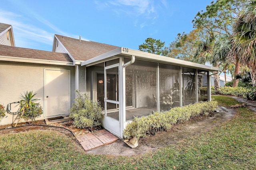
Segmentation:
[(80, 142), (84, 150), (90, 150), (102, 145), (107, 145), (118, 140), (118, 137), (112, 133), (102, 129), (100, 131), (95, 131), (92, 133), (87, 133), (76, 137)]

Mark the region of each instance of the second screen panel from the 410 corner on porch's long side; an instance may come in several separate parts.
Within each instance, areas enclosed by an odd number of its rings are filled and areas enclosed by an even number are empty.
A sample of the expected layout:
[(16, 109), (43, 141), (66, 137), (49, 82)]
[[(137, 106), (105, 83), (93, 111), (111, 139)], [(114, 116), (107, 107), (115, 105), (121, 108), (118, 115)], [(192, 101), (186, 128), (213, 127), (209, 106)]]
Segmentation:
[(180, 106), (180, 66), (159, 64), (160, 110)]

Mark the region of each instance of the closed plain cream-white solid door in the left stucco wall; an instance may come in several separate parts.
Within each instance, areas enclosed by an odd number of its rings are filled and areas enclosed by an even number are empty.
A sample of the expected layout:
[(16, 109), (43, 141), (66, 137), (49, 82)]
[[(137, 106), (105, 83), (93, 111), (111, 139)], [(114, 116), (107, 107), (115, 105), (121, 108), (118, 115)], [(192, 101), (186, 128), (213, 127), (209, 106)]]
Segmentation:
[(44, 116), (70, 113), (70, 70), (44, 69)]

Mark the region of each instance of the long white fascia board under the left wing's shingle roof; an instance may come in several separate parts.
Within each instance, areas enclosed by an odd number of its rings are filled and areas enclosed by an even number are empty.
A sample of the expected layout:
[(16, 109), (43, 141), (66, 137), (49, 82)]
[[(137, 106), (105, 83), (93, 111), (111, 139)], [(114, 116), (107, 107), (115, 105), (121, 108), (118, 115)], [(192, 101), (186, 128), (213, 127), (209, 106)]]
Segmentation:
[(22, 62), (22, 63), (37, 63), (37, 64), (74, 66), (73, 62), (27, 59), (27, 58), (22, 58), (22, 57), (10, 57), (10, 56), (0, 56), (0, 61), (13, 61), (13, 62)]

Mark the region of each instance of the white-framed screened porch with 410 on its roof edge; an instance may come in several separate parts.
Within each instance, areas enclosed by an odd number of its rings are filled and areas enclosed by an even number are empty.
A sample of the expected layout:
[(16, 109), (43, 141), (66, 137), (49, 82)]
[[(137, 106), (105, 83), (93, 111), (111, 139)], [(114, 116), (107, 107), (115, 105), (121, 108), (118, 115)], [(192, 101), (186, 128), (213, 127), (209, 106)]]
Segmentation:
[(219, 68), (120, 47), (82, 62), (86, 92), (98, 100), (102, 126), (122, 138), (134, 117), (210, 101)]

